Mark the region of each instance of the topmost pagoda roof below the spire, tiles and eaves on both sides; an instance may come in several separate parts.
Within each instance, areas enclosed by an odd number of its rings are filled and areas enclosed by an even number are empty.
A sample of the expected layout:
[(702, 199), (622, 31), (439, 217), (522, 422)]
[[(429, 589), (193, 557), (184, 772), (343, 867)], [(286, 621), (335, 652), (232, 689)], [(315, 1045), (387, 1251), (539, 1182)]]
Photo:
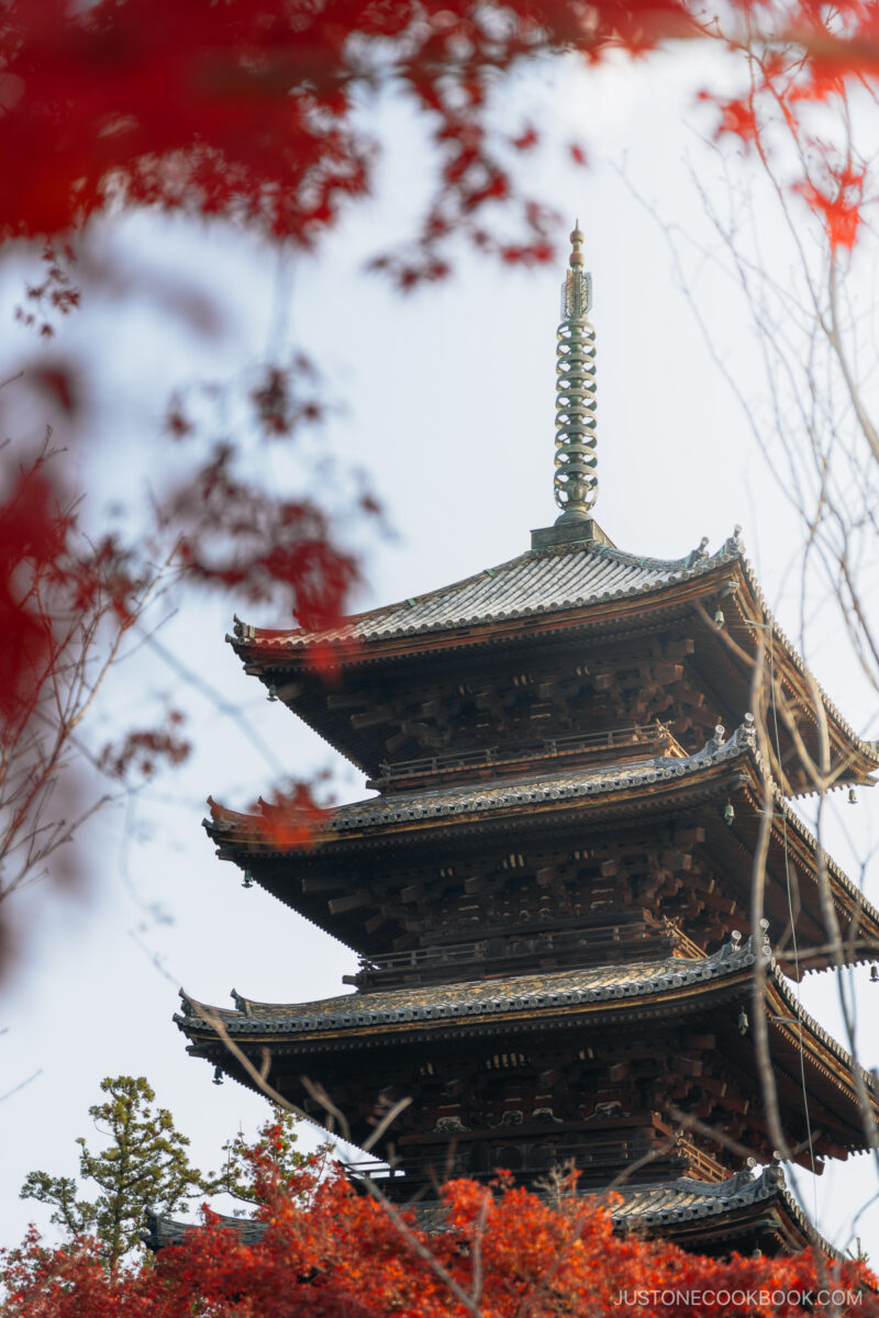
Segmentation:
[[(713, 555), (700, 546), (681, 559), (627, 554), (597, 539), (528, 550), (452, 585), (356, 614), (339, 627), (262, 629), (236, 619), (235, 635), (227, 639), (249, 672), (275, 687), (331, 745), (377, 775), (383, 746), (356, 720), (352, 725), (349, 713), (328, 704), (326, 691), (310, 680), (314, 646), (332, 646), (352, 673), (376, 673), (431, 655), (448, 664), (449, 651), (523, 645), (534, 651), (577, 637), (621, 639), (675, 619), (696, 626), (710, 645), (716, 688), (739, 710), (750, 704), (749, 656), (766, 645), (813, 759), (818, 758), (813, 709), (818, 691), (838, 783), (862, 782), (879, 766), (879, 742), (854, 731), (778, 626), (738, 536)], [(791, 738), (780, 724), (781, 755), (774, 774), (787, 793), (813, 791), (809, 775), (785, 763), (787, 782), (781, 762), (791, 759)]]

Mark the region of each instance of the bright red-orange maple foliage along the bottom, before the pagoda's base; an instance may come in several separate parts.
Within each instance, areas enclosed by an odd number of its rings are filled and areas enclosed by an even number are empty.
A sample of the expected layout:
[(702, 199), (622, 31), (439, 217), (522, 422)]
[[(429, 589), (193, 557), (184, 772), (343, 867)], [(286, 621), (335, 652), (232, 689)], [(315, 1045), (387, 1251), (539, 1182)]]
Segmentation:
[[(553, 1206), (503, 1181), (494, 1188), (453, 1181), (441, 1190), (443, 1230), (431, 1234), (412, 1214), (395, 1220), (341, 1169), (320, 1176), (322, 1160), (279, 1176), (270, 1135), (268, 1127), (248, 1153), (265, 1224), (256, 1243), (245, 1244), (206, 1211), (206, 1224), (162, 1249), (154, 1265), (113, 1276), (92, 1242), (46, 1249), (32, 1231), (0, 1256), (4, 1311), (11, 1318), (609, 1318), (634, 1307), (646, 1318), (720, 1311), (793, 1318), (810, 1311), (822, 1292), (847, 1292), (837, 1314), (879, 1313), (876, 1281), (863, 1265), (817, 1264), (808, 1251), (792, 1259), (685, 1253), (615, 1235), (609, 1205), (575, 1193)], [(718, 1306), (717, 1292), (741, 1298)]]

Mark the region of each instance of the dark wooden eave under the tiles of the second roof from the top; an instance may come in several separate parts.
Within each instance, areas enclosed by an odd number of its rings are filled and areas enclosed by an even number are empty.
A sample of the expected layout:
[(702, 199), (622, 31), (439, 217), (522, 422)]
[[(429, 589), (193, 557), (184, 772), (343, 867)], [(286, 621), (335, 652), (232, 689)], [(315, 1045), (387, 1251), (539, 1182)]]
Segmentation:
[[(735, 818), (729, 825), (721, 816), (726, 800), (735, 803)], [(352, 883), (352, 870), (369, 869), (380, 863), (387, 878), (393, 873), (391, 857), (399, 857), (401, 861), (409, 858), (411, 862), (414, 851), (432, 850), (438, 840), (441, 840), (447, 858), (453, 861), (456, 854), (472, 845), (474, 838), (492, 838), (498, 834), (510, 838), (521, 838), (523, 834), (538, 837), (550, 829), (560, 834), (581, 820), (588, 822), (592, 830), (608, 832), (621, 820), (647, 815), (658, 821), (679, 818), (683, 812), (692, 813), (700, 807), (698, 820), (710, 824), (712, 847), (716, 854), (721, 862), (725, 851), (730, 857), (723, 866), (725, 891), (741, 902), (742, 915), (737, 917), (737, 924), (747, 933), (751, 866), (763, 809), (763, 784), (758, 766), (750, 755), (738, 755), (726, 762), (709, 764), (684, 778), (640, 784), (605, 795), (567, 801), (517, 804), (493, 811), (490, 815), (412, 820), (405, 824), (352, 829), (344, 834), (324, 834), (316, 838), (314, 849), (273, 850), (260, 838), (258, 816), (236, 816), (228, 811), (223, 811), (223, 816), (237, 825), (235, 832), (228, 833), (208, 825), (208, 833), (217, 844), (223, 859), (233, 861), (242, 870), (250, 869), (256, 882), (278, 900), (348, 946), (377, 952), (381, 950), (381, 945), (376, 946), (373, 940), (364, 934), (364, 919), (365, 912), (370, 909), (369, 903), (365, 909), (361, 904), (361, 908), (353, 912), (353, 919), (345, 912), (332, 912), (328, 892), (320, 891), (322, 878), (329, 880), (332, 874), (339, 874), (341, 869), (344, 879), (336, 888), (336, 896), (341, 898), (347, 886)], [(764, 907), (772, 921), (774, 938), (783, 942), (785, 969), (788, 974), (799, 978), (805, 970), (826, 969), (833, 965), (834, 956), (828, 946), (817, 891), (816, 840), (778, 795), (775, 808), (768, 854), (768, 874), (772, 882), (767, 884)], [(706, 816), (705, 809), (708, 809)], [(851, 880), (826, 855), (825, 873), (830, 899), (842, 928), (843, 963), (858, 963), (875, 957), (879, 950), (879, 912), (863, 899)], [(797, 950), (796, 956), (788, 928), (788, 874), (792, 875), (791, 902), (795, 909), (797, 899), (800, 903), (796, 936), (801, 950)], [(316, 879), (311, 894), (307, 891), (308, 876)], [(368, 880), (361, 875), (354, 882), (360, 884)]]

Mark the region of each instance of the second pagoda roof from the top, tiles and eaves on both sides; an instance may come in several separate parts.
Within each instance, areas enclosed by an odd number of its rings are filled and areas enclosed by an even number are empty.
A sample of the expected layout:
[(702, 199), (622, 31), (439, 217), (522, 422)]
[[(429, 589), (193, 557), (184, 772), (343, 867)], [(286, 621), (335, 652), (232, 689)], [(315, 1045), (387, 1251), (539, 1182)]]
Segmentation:
[[(680, 815), (688, 808), (717, 813), (730, 800), (735, 801), (734, 821), (717, 826), (718, 845), (729, 849), (738, 840), (750, 853), (763, 824), (764, 805), (763, 764), (752, 720), (727, 739), (709, 741), (695, 755), (623, 759), (613, 766), (563, 774), (496, 778), (353, 801), (311, 817), (312, 846), (293, 851), (278, 841), (283, 826), (274, 826), (275, 817), (287, 825), (293, 822), (287, 807), (261, 803), (260, 813), (248, 815), (211, 801), (211, 818), (204, 826), (220, 857), (252, 870), (256, 882), (281, 900), (343, 941), (365, 949), (373, 940), (364, 938), (362, 911), (354, 915), (333, 911), (320, 884), (316, 891), (308, 888), (308, 880), (303, 883), (300, 875), (328, 874), (333, 861), (341, 874), (352, 857), (372, 857), (376, 847), (382, 847), (385, 855), (387, 849), (402, 854), (412, 847), (435, 846), (438, 838), (460, 840), (468, 833), (486, 834), (493, 829), (514, 838), (521, 832), (534, 834), (542, 829), (557, 833), (577, 820), (596, 828), (625, 818)], [(785, 867), (793, 866), (803, 905), (801, 941), (805, 934), (821, 950), (804, 948), (796, 962), (788, 963), (788, 971), (824, 969), (838, 962), (824, 933), (817, 840), (778, 788), (772, 789), (772, 801), (766, 911), (776, 928), (787, 924), (787, 886), (780, 876)], [(879, 948), (879, 911), (830, 857), (822, 855), (822, 863), (843, 931), (843, 944), (837, 950), (845, 963), (867, 960)], [(743, 904), (747, 908), (747, 896)]]

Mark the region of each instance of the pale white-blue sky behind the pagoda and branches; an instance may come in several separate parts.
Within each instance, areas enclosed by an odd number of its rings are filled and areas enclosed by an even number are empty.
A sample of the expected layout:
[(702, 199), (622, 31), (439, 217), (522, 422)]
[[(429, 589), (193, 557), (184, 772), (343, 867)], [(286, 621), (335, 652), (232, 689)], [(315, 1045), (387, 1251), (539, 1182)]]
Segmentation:
[[(684, 163), (689, 156), (710, 183), (714, 166), (697, 137), (708, 121), (695, 108), (693, 90), (717, 71), (701, 69), (698, 58), (688, 51), (634, 70), (577, 76), (552, 70), (531, 79), (521, 95), (536, 101), (539, 121), (553, 119), (561, 142), (575, 132), (585, 137), (593, 159), (590, 169), (579, 170), (559, 150), (540, 166), (535, 185), (571, 217), (564, 235), (575, 212), (586, 235), (600, 353), (598, 521), (621, 547), (658, 556), (684, 555), (702, 535), (716, 548), (741, 523), (768, 598), (796, 634), (796, 583), (788, 575), (796, 521), (677, 286), (656, 219), (681, 225), (697, 241), (713, 241)], [(240, 372), (264, 356), (268, 341), (278, 356), (283, 312), (290, 341), (312, 353), (345, 401), (345, 411), (316, 443), (372, 473), (398, 532), (370, 551), (362, 604), (419, 593), (501, 563), (528, 546), (531, 527), (555, 517), (555, 327), (563, 262), (523, 273), (467, 260), (447, 285), (406, 299), (364, 275), (364, 258), (399, 225), (424, 174), (423, 146), (411, 125), (393, 105), (381, 115), (397, 146), (380, 195), (352, 210), (318, 261), (282, 279), (270, 249), (223, 229), (152, 216), (120, 227), (113, 243), (123, 257), (148, 270), (171, 269), (174, 278), (215, 299), (224, 312), (221, 331), (199, 339), (150, 298), (132, 299), (121, 322), (113, 304), (99, 301), (66, 330), (66, 343), (94, 369), (104, 472), (95, 477), (84, 459), (82, 469), (96, 507), (113, 482), (132, 488), (149, 478), (150, 435), (170, 389)], [(635, 199), (630, 183), (655, 203), (655, 214)], [(766, 237), (781, 270), (788, 260), (783, 236), (768, 229)], [(21, 277), (9, 269), (0, 274), (5, 316)], [(750, 323), (731, 282), (705, 265), (691, 293), (717, 351), (759, 402)], [(12, 332), (8, 343), (9, 362), (32, 351)], [(32, 424), (41, 420), (42, 413), (33, 410)], [(63, 426), (57, 438), (65, 439)], [(265, 461), (281, 485), (291, 481), (278, 456), (269, 453)], [(248, 621), (287, 621), (239, 612)], [(285, 771), (333, 767), (337, 795), (358, 796), (358, 775), (245, 679), (223, 642), (229, 613), (225, 606), (192, 606), (167, 623), (165, 643), (244, 710)], [(855, 726), (878, 735), (870, 724), (875, 712), (833, 627), (809, 660)], [(90, 828), (94, 882), (86, 899), (34, 892), (20, 905), (29, 945), (0, 1004), (8, 1029), (0, 1040), (0, 1089), (38, 1074), (4, 1101), (0, 1240), (7, 1243), (21, 1236), (28, 1220), (46, 1223), (46, 1213), (20, 1202), (17, 1189), (33, 1168), (75, 1170), (74, 1137), (91, 1133), (87, 1107), (104, 1075), (148, 1075), (159, 1103), (191, 1135), (203, 1165), (220, 1162), (220, 1147), (239, 1126), (254, 1131), (264, 1119), (261, 1099), (229, 1082), (213, 1087), (210, 1068), (187, 1058), (171, 1023), (178, 985), (220, 1004), (232, 987), (257, 999), (297, 1002), (340, 991), (341, 974), (354, 966), (352, 952), (258, 888), (244, 892), (239, 871), (215, 861), (199, 826), (204, 797), (210, 792), (245, 805), (270, 784), (275, 768), (217, 717), (198, 685), (175, 681), (149, 650), (141, 651), (117, 673), (107, 734), (136, 720), (162, 692), (191, 714), (198, 737), (191, 763)], [(875, 834), (871, 807), (871, 800), (859, 807), (857, 828), (843, 821), (858, 847)], [(857, 875), (857, 851), (845, 854), (842, 833), (837, 851)], [(867, 891), (879, 898), (875, 874)], [(863, 1012), (876, 1000), (871, 991), (879, 994), (866, 986), (867, 978), (866, 967), (854, 974)], [(810, 977), (803, 999), (839, 1033), (829, 975)], [(875, 1037), (865, 1035), (861, 1048), (866, 1064), (879, 1062)], [(851, 1215), (872, 1185), (859, 1159), (809, 1188), (822, 1230), (838, 1243), (847, 1243)], [(875, 1256), (876, 1215), (866, 1217), (858, 1232)]]

